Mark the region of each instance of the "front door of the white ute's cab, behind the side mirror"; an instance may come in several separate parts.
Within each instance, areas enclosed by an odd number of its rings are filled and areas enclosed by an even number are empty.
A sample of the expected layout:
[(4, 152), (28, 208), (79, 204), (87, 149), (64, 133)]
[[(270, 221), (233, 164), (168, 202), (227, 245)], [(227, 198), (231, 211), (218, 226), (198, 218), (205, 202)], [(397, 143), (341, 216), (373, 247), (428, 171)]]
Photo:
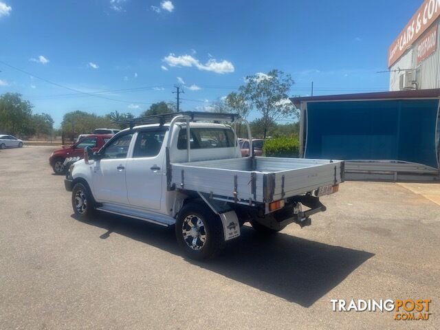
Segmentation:
[(111, 141), (92, 165), (92, 189), (97, 201), (129, 204), (125, 175), (132, 137), (133, 133), (127, 133)]

